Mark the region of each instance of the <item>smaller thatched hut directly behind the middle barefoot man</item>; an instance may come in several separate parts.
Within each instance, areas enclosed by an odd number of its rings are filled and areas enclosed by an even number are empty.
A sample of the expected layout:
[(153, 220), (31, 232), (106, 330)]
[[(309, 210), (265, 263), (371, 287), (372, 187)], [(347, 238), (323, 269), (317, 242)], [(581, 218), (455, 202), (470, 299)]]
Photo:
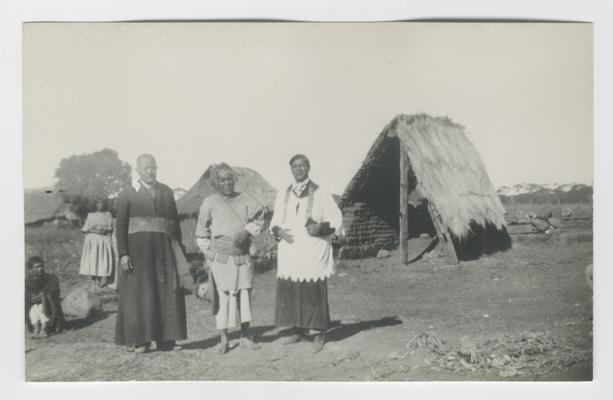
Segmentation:
[[(214, 167), (215, 165), (209, 166), (200, 179), (177, 200), (183, 245), (188, 254), (197, 254), (200, 251), (196, 245), (196, 223), (202, 200), (216, 192), (211, 182), (211, 172)], [(249, 193), (272, 213), (277, 190), (252, 169), (244, 167), (232, 167), (232, 169), (238, 178), (236, 191)]]

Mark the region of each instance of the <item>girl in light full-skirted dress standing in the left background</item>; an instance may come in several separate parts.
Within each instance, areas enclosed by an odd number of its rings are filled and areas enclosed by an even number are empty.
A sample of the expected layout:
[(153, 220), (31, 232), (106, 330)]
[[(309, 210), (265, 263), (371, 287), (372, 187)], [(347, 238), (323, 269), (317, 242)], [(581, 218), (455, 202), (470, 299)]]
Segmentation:
[(91, 276), (94, 290), (99, 290), (108, 283), (115, 260), (111, 240), (113, 217), (104, 200), (96, 201), (96, 211), (87, 215), (81, 231), (86, 235), (79, 274)]

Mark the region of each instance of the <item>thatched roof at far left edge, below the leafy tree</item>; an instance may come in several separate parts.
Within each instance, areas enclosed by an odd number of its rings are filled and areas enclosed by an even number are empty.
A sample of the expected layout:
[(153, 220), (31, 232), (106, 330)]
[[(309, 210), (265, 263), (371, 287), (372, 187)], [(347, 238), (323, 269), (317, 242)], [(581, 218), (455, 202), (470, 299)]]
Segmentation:
[(68, 204), (53, 189), (24, 190), (24, 219), (26, 225), (64, 218), (66, 207), (68, 207)]

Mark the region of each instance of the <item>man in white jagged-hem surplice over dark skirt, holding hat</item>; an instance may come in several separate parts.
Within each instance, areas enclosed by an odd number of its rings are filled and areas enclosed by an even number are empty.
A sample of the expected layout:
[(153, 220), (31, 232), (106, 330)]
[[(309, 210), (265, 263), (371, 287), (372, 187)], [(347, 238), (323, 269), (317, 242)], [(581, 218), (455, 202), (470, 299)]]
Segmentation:
[(335, 272), (331, 240), (342, 234), (342, 212), (331, 194), (309, 178), (309, 159), (290, 159), (294, 182), (279, 192), (270, 223), (278, 246), (275, 324), (290, 327), (286, 344), (315, 330), (313, 352), (325, 345), (330, 326), (328, 278)]

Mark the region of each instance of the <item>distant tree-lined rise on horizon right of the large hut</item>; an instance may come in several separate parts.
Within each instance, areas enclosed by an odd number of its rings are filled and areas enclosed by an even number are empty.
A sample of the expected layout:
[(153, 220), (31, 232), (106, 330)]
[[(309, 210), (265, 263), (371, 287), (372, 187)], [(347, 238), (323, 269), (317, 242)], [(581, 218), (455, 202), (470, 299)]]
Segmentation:
[(591, 203), (592, 185), (580, 183), (545, 184), (520, 183), (498, 189), (500, 200), (505, 203)]

